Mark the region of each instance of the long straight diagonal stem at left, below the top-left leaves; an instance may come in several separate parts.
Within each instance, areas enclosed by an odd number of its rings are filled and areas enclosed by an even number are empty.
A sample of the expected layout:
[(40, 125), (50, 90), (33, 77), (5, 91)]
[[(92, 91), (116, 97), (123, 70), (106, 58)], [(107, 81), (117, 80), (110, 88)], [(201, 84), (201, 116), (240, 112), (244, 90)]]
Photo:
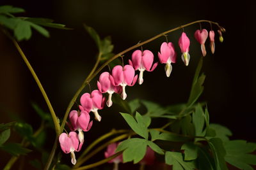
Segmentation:
[(52, 108), (52, 104), (51, 104), (51, 102), (49, 101), (49, 98), (48, 98), (48, 96), (47, 96), (47, 94), (46, 94), (46, 92), (45, 92), (45, 90), (44, 90), (44, 87), (42, 86), (42, 83), (40, 82), (40, 80), (39, 80), (38, 77), (36, 76), (36, 73), (35, 73), (33, 67), (30, 65), (30, 63), (29, 63), (29, 61), (28, 61), (26, 55), (25, 55), (24, 52), (21, 50), (21, 48), (20, 48), (19, 44), (17, 43), (17, 41), (16, 41), (15, 39), (13, 39), (13, 38), (11, 38), (11, 39), (12, 39), (12, 41), (13, 41), (15, 47), (17, 48), (18, 52), (20, 53), (22, 59), (23, 59), (24, 62), (26, 63), (26, 65), (27, 65), (29, 71), (31, 72), (31, 74), (32, 74), (32, 76), (33, 76), (33, 78), (34, 78), (35, 81), (36, 81), (36, 84), (38, 85), (38, 87), (39, 87), (39, 89), (40, 89), (40, 91), (41, 91), (41, 93), (42, 93), (42, 95), (43, 95), (43, 97), (44, 97), (44, 99), (45, 99), (45, 102), (46, 102), (46, 104), (47, 104), (47, 106), (48, 106), (48, 108), (49, 108), (49, 111), (50, 111), (50, 113), (51, 113), (52, 120), (53, 120), (54, 126), (55, 126), (56, 134), (59, 135), (59, 134), (60, 134), (60, 124), (59, 124), (58, 118), (56, 117), (56, 114), (55, 114), (55, 112), (54, 112), (54, 110), (53, 110), (53, 108)]

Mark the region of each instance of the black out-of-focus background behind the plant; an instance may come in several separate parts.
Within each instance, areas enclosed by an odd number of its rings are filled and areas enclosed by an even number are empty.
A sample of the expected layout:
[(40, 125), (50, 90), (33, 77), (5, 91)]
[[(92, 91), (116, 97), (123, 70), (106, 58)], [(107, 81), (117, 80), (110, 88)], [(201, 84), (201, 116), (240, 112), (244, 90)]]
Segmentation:
[[(230, 3), (232, 2), (232, 3)], [(211, 54), (209, 40), (205, 43), (207, 56), (203, 71), (206, 74), (205, 90), (200, 101), (207, 101), (212, 123), (225, 125), (233, 132), (232, 139), (255, 138), (255, 11), (252, 1), (0, 1), (26, 10), (24, 16), (52, 18), (58, 23), (74, 28), (72, 31), (49, 29), (51, 38), (44, 38), (33, 31), (29, 41), (20, 46), (34, 67), (51, 100), (58, 117), (63, 117), (67, 105), (84, 78), (92, 69), (97, 48), (83, 29), (90, 25), (103, 38), (111, 36), (118, 53), (139, 41), (195, 20), (212, 20), (225, 27), (224, 41), (218, 41)], [(202, 23), (209, 31), (210, 25)], [(189, 66), (180, 58), (178, 40), (182, 30), (172, 32), (168, 40), (175, 44), (177, 63), (173, 64), (170, 78), (166, 78), (164, 65), (156, 71), (145, 72), (144, 83), (127, 88), (127, 100), (147, 99), (166, 106), (186, 102), (195, 67), (200, 58), (200, 45), (194, 38), (199, 24), (186, 27), (184, 31), (191, 40)], [(157, 52), (165, 38), (159, 38), (143, 46)], [(125, 54), (125, 62), (131, 52)], [(108, 71), (108, 68), (104, 69)], [(1, 122), (22, 120), (36, 129), (40, 118), (31, 108), (30, 101), (38, 103), (45, 111), (47, 106), (28, 68), (15, 50), (12, 42), (0, 33), (0, 106)], [(97, 78), (91, 87), (96, 89)], [(84, 92), (90, 92), (88, 87)], [(93, 141), (109, 129), (124, 124), (118, 108), (100, 111), (102, 122), (95, 122), (86, 139)], [(16, 115), (16, 116), (15, 116)], [(115, 120), (116, 119), (116, 120)], [(49, 145), (54, 132), (49, 132)], [(87, 137), (88, 136), (88, 137)], [(92, 136), (90, 139), (89, 136)], [(95, 137), (96, 136), (96, 137)], [(12, 138), (14, 138), (12, 136)], [(89, 143), (88, 142), (88, 143)], [(2, 156), (1, 156), (2, 157)], [(2, 161), (1, 161), (2, 162)], [(5, 161), (4, 161), (5, 162)]]

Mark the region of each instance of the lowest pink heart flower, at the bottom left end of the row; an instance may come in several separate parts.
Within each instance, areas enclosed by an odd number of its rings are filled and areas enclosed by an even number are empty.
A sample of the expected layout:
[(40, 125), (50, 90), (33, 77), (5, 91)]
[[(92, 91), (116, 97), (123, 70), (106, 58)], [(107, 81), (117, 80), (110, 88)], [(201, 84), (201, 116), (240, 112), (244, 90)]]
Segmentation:
[(61, 150), (63, 150), (64, 153), (70, 153), (71, 154), (71, 162), (72, 164), (76, 164), (76, 155), (75, 151), (79, 152), (81, 149), (81, 145), (83, 143), (79, 144), (78, 135), (76, 132), (70, 132), (69, 134), (62, 133), (59, 137)]

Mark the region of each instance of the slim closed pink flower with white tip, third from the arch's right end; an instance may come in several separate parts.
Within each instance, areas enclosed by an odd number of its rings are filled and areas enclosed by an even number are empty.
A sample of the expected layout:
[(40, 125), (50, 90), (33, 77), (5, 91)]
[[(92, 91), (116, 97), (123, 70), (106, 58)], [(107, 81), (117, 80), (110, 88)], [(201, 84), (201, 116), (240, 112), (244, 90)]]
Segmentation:
[(189, 41), (188, 36), (186, 35), (185, 32), (182, 32), (180, 39), (179, 39), (179, 46), (180, 46), (180, 50), (182, 52), (181, 59), (183, 60), (183, 62), (185, 63), (186, 66), (188, 66), (189, 59), (190, 59), (190, 55), (188, 53), (189, 45), (190, 45), (190, 41)]

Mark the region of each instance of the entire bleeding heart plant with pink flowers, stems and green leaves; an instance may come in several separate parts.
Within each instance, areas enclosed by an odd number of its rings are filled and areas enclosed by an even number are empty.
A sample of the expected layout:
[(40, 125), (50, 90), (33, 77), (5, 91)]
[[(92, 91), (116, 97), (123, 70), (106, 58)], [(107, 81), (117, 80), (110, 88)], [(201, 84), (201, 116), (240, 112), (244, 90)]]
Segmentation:
[[(198, 98), (204, 90), (205, 75), (201, 71), (204, 57), (207, 55), (207, 38), (209, 36), (209, 48), (212, 53), (215, 52), (214, 32), (218, 32), (220, 41), (223, 41), (222, 33), (225, 32), (225, 29), (218, 23), (197, 20), (165, 31), (117, 54), (113, 54), (113, 45), (109, 38), (101, 39), (92, 27), (84, 25), (99, 50), (97, 62), (71, 99), (65, 115), (58, 118), (40, 80), (17, 41), (28, 40), (31, 37), (31, 28), (46, 37), (49, 37), (49, 32), (44, 27), (68, 28), (62, 24), (54, 24), (49, 19), (15, 17), (13, 15), (23, 11), (22, 8), (1, 6), (1, 31), (12, 40), (31, 71), (42, 96), (44, 96), (51, 117), (36, 104), (33, 104), (35, 111), (44, 120), (42, 126), (35, 133), (31, 130), (33, 129), (31, 125), (26, 123), (0, 124), (0, 149), (13, 155), (4, 166), (4, 170), (10, 169), (20, 155), (31, 152), (29, 145), (42, 150), (43, 147), (38, 145), (40, 143), (38, 136), (45, 130), (45, 124), (55, 130), (56, 139), (51, 153), (47, 155), (47, 161), (35, 160), (31, 163), (38, 169), (42, 169), (44, 166), (44, 169), (81, 170), (97, 167), (107, 162), (114, 163), (114, 169), (118, 169), (118, 164), (126, 162), (140, 164), (141, 169), (148, 165), (154, 165), (159, 169), (163, 167), (162, 164), (172, 166), (173, 169), (228, 169), (227, 163), (239, 169), (252, 169), (251, 166), (256, 164), (256, 156), (251, 154), (255, 151), (256, 144), (247, 143), (244, 140), (230, 140), (228, 138), (232, 135), (230, 130), (219, 124), (211, 124), (207, 104), (198, 102)], [(189, 61), (195, 57), (189, 52), (189, 46), (192, 44), (189, 39), (191, 36), (188, 35), (191, 32), (185, 32), (184, 28), (197, 23), (209, 24), (211, 31), (208, 33), (207, 28), (202, 29), (201, 27), (195, 31), (195, 39), (200, 43), (202, 57), (196, 67), (188, 101), (161, 106), (142, 99), (129, 100), (127, 86), (132, 88), (134, 85), (147, 83), (148, 80), (143, 78), (145, 71), (145, 74), (150, 74), (147, 72), (152, 72), (165, 64), (166, 76), (172, 77), (173, 64), (179, 62), (180, 58), (185, 66), (189, 66)], [(169, 42), (168, 34), (179, 29), (183, 29), (179, 41)], [(158, 53), (152, 52), (150, 49), (143, 50), (143, 45), (163, 36), (166, 41), (159, 45)], [(180, 52), (175, 50), (175, 44), (179, 45)], [(126, 56), (125, 54), (131, 50), (134, 50), (131, 57)], [(158, 57), (156, 57), (156, 53)], [(177, 57), (177, 55), (181, 57)], [(125, 57), (129, 58), (129, 62), (125, 63)], [(113, 64), (115, 59), (120, 59), (117, 61), (118, 64)], [(160, 63), (158, 63), (158, 59)], [(109, 71), (103, 72), (102, 69), (106, 66), (109, 66)], [(136, 71), (139, 73), (137, 74)], [(93, 86), (95, 90), (82, 94), (84, 87), (90, 86), (90, 82), (98, 75), (99, 80)], [(115, 99), (112, 100), (112, 97)], [(100, 111), (104, 110), (106, 106), (112, 107), (115, 104), (120, 104), (125, 110), (125, 113), (120, 112), (120, 115), (124, 118), (123, 123), (129, 125), (130, 129), (115, 129), (115, 124), (113, 124), (111, 125), (112, 131), (99, 136), (92, 143), (87, 143), (86, 139), (90, 136), (87, 136), (86, 132), (92, 131), (94, 124), (100, 124), (104, 118), (108, 117), (102, 115)], [(10, 129), (15, 129), (24, 138), (21, 144), (7, 142), (10, 137)], [(62, 150), (60, 152), (62, 157), (66, 157), (65, 153), (70, 154), (72, 164), (61, 160), (61, 157), (56, 154), (60, 150), (58, 148)], [(102, 154), (105, 156), (104, 159), (92, 164), (87, 163), (87, 160), (102, 150), (105, 150)], [(78, 159), (76, 155), (79, 155)]]

